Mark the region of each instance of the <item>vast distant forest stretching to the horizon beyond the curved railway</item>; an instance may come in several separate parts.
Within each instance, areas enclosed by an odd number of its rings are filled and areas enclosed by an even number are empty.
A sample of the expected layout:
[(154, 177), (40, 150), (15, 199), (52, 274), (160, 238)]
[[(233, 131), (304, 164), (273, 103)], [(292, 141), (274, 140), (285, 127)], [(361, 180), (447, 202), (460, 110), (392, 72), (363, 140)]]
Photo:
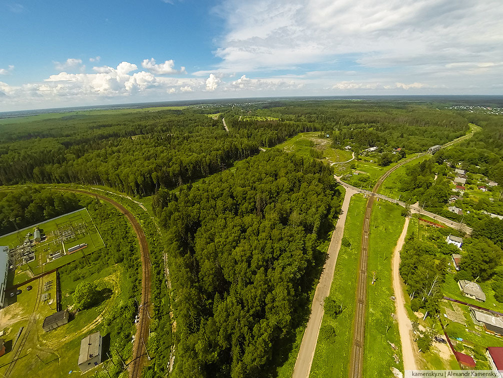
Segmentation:
[[(350, 143), (357, 152), (385, 145), (417, 152), (468, 130), (453, 111), (406, 103), (285, 101), (267, 107), (228, 109), (228, 134), (220, 118), (197, 109), (74, 113), (4, 124), (0, 184), (103, 184), (144, 196), (221, 171), (300, 132), (329, 131), (334, 146)], [(254, 119), (255, 113), (275, 120)]]

